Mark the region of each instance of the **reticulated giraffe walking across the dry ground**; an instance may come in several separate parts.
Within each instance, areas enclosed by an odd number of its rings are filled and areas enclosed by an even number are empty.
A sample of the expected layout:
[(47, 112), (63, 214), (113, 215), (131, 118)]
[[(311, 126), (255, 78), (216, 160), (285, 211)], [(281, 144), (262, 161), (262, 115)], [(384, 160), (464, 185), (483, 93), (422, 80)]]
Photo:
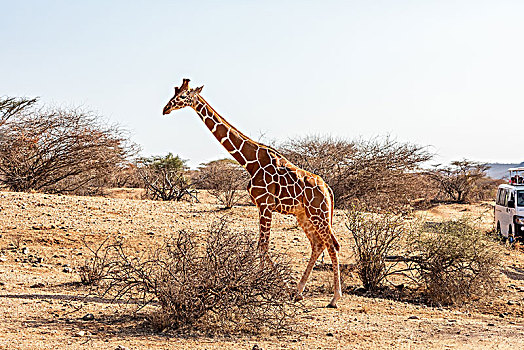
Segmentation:
[(295, 299), (302, 292), (319, 255), (327, 249), (333, 266), (334, 295), (327, 307), (337, 307), (342, 296), (338, 252), (333, 233), (333, 191), (318, 175), (292, 164), (277, 150), (251, 140), (221, 117), (200, 95), (202, 88), (190, 88), (189, 79), (175, 87), (175, 95), (163, 114), (184, 107), (193, 108), (211, 133), (250, 175), (248, 192), (259, 212), (258, 248), (265, 254), (269, 246), (273, 212), (292, 214), (311, 244), (311, 257), (300, 279)]

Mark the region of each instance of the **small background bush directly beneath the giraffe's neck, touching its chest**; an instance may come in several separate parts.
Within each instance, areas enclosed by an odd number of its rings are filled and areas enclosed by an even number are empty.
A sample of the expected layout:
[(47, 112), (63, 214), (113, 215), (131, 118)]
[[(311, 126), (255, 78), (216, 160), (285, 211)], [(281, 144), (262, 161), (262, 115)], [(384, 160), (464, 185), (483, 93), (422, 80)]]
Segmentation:
[(199, 187), (209, 190), (209, 194), (226, 208), (246, 198), (248, 173), (234, 160), (220, 159), (203, 164), (197, 176)]

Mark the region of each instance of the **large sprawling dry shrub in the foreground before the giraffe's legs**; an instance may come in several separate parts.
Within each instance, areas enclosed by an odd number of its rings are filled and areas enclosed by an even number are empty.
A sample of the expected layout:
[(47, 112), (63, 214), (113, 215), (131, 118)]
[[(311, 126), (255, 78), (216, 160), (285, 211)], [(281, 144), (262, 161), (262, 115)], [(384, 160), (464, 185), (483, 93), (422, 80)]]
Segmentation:
[(230, 230), (224, 220), (207, 232), (182, 230), (142, 254), (122, 242), (94, 251), (105, 252), (111, 258), (103, 293), (154, 306), (148, 319), (156, 331), (282, 330), (298, 311), (283, 256), (260, 256), (255, 237)]

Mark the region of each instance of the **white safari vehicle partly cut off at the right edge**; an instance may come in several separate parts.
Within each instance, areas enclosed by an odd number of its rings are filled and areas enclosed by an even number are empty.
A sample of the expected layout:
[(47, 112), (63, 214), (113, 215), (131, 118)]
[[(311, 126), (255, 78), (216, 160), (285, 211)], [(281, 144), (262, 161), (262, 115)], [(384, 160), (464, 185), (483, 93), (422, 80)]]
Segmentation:
[(497, 232), (513, 242), (524, 240), (524, 167), (508, 170), (509, 183), (497, 191), (495, 224)]

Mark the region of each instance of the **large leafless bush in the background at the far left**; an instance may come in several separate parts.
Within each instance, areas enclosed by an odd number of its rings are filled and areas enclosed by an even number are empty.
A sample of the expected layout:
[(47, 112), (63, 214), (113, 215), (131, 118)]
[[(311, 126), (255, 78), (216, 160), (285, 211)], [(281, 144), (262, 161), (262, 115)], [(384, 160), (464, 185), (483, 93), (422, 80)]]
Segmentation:
[(30, 107), (0, 127), (0, 182), (10, 190), (89, 193), (134, 154), (124, 133), (93, 113)]

